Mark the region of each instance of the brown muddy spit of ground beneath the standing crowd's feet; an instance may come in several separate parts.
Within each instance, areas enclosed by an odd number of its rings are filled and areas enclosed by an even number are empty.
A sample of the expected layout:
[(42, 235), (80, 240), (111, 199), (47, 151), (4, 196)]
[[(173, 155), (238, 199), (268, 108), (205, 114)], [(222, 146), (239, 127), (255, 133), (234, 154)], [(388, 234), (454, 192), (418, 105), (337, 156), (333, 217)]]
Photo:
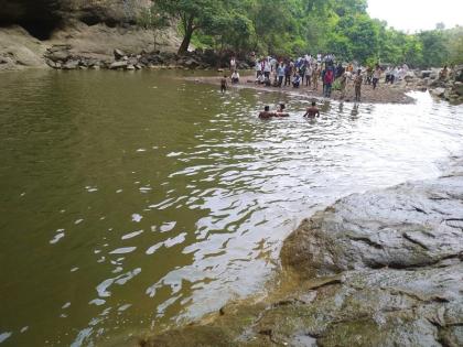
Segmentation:
[[(190, 80), (196, 83), (206, 83), (215, 84), (217, 88), (219, 86), (219, 77), (192, 77)], [(292, 95), (301, 95), (304, 97), (312, 98), (322, 98), (323, 97), (323, 86), (319, 82), (316, 89), (313, 87), (301, 86), (300, 88), (293, 88), (292, 86), (282, 86), (279, 87), (266, 87), (254, 83), (252, 76), (241, 77), (243, 82), (236, 85), (230, 85), (229, 88), (250, 88), (255, 90), (265, 90), (265, 91), (274, 91), (274, 93), (288, 93)], [(418, 78), (417, 78), (418, 80)], [(406, 82), (400, 82), (394, 85), (385, 85), (380, 83), (378, 87), (373, 90), (372, 85), (364, 85), (362, 87), (362, 101), (363, 102), (375, 102), (375, 104), (412, 104), (413, 99), (406, 94), (411, 90), (416, 90), (414, 84), (408, 84)], [(341, 100), (341, 93), (338, 90), (333, 90), (331, 98), (334, 100)], [(355, 100), (355, 90), (353, 80), (349, 80), (346, 87), (346, 97), (344, 101), (354, 101)]]

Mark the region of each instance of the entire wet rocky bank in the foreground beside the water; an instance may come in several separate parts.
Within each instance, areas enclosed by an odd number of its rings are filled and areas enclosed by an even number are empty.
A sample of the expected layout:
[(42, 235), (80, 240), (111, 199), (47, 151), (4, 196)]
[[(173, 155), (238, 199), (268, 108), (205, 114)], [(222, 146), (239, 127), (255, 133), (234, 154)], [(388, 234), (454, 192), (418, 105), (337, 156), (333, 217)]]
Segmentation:
[(463, 346), (463, 161), (354, 194), (284, 241), (281, 286), (140, 346)]

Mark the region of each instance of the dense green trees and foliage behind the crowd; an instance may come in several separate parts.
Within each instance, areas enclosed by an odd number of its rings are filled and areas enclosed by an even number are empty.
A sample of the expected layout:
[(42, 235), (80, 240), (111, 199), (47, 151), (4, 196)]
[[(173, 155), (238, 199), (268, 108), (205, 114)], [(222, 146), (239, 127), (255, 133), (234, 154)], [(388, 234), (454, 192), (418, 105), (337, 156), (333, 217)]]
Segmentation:
[(217, 51), (301, 55), (331, 52), (344, 61), (440, 66), (463, 63), (463, 28), (406, 34), (372, 19), (367, 0), (154, 0), (180, 23), (184, 40)]

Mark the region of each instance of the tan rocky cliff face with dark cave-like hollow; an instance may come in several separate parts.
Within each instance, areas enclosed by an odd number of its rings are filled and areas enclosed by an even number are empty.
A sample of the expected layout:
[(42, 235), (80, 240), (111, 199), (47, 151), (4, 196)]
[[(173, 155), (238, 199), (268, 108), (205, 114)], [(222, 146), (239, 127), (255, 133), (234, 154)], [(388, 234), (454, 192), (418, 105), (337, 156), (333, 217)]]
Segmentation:
[[(46, 66), (47, 48), (110, 62), (115, 48), (128, 54), (154, 50), (153, 33), (137, 28), (151, 0), (0, 0), (0, 71)], [(157, 50), (180, 45), (174, 29), (158, 33)]]

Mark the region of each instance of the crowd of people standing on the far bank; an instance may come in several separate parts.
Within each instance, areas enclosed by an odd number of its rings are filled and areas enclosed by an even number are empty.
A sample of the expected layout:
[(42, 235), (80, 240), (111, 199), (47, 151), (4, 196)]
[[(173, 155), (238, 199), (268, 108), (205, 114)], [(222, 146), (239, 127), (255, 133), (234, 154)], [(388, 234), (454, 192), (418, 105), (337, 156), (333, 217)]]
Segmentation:
[[(356, 101), (360, 101), (363, 85), (372, 85), (373, 89), (376, 89), (383, 76), (385, 76), (385, 84), (394, 84), (402, 79), (409, 71), (406, 64), (396, 67), (379, 65), (363, 67), (355, 63), (343, 64), (336, 62), (334, 54), (321, 53), (313, 56), (306, 54), (294, 59), (268, 56), (256, 59), (254, 68), (256, 72), (255, 83), (258, 85), (278, 88), (305, 86), (313, 91), (319, 89), (319, 85), (322, 85), (323, 96), (326, 98), (331, 97), (332, 90), (335, 88), (340, 90), (341, 99), (344, 99), (346, 87), (352, 82)], [(240, 77), (235, 57), (230, 59), (230, 72), (232, 84), (238, 84)]]

